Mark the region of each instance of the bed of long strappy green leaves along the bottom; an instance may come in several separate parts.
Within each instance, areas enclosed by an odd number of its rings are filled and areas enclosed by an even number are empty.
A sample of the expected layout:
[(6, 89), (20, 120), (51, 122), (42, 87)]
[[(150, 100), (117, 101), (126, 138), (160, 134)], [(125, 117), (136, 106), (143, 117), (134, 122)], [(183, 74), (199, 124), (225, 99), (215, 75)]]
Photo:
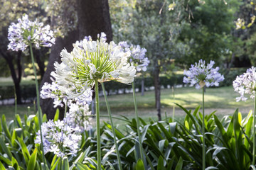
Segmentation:
[[(199, 107), (188, 111), (180, 106), (186, 117), (180, 122), (171, 118), (146, 123), (140, 118), (146, 169), (201, 169), (201, 124)], [(215, 112), (206, 115), (206, 165), (208, 169), (249, 169), (252, 159), (252, 112), (242, 118), (238, 110), (233, 116), (218, 119)], [(119, 118), (126, 124), (126, 130), (115, 128), (123, 169), (136, 169), (142, 162), (138, 159), (137, 123), (135, 119)], [(43, 118), (46, 121), (46, 117)], [(55, 116), (58, 120), (58, 113)], [(105, 123), (102, 135), (102, 169), (117, 168), (116, 152), (111, 125)], [(9, 124), (5, 116), (0, 126), (1, 168), (41, 169), (41, 150), (34, 144), (38, 130), (38, 117), (19, 115)], [(95, 131), (82, 133), (78, 157), (63, 159), (69, 169), (95, 169)], [(6, 144), (9, 145), (6, 145)], [(46, 154), (48, 166), (58, 169), (60, 159), (52, 153)], [(210, 167), (209, 167), (210, 166)]]

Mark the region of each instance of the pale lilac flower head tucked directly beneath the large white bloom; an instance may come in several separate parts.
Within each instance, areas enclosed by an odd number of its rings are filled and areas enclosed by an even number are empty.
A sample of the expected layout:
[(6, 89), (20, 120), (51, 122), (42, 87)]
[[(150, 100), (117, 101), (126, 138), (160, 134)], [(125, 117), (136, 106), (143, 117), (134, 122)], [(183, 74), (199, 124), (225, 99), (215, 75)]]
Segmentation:
[(54, 108), (57, 106), (63, 107), (63, 103), (66, 103), (68, 100), (68, 107), (71, 103), (75, 103), (78, 106), (90, 105), (92, 102), (92, 90), (86, 89), (80, 96), (75, 98), (68, 98), (62, 90), (63, 86), (58, 85), (55, 81), (51, 84), (45, 83), (41, 88), (41, 98), (53, 98)]

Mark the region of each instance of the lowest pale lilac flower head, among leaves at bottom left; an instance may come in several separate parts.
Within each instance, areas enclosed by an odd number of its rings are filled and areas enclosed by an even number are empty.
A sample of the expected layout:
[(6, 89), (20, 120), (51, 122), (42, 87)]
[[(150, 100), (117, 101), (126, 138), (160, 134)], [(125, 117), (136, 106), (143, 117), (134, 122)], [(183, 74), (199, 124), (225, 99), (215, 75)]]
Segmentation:
[[(43, 135), (44, 153), (53, 152), (57, 157), (65, 157), (71, 154), (76, 156), (79, 149), (81, 135), (77, 135), (76, 130), (67, 124), (67, 120), (53, 122), (49, 120), (41, 125)], [(35, 143), (41, 144), (40, 130), (36, 133)]]

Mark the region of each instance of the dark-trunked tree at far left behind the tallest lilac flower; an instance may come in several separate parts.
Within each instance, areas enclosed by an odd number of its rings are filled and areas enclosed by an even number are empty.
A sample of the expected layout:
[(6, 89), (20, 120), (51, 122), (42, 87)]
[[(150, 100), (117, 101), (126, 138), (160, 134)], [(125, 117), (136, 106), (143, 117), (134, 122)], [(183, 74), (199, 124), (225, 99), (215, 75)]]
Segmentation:
[[(40, 20), (46, 21), (47, 18), (44, 18), (44, 11), (42, 10), (44, 3), (39, 0), (36, 1), (1, 1), (0, 2), (0, 11), (5, 13), (0, 16), (0, 57), (6, 61), (6, 65), (9, 66), (9, 71), (11, 78), (14, 81), (14, 87), (16, 91), (17, 103), (21, 103), (21, 89), (20, 82), (22, 77), (22, 60), (29, 61), (26, 59), (26, 54), (22, 52), (11, 52), (7, 50), (7, 45), (9, 40), (7, 39), (8, 28), (12, 22), (17, 22), (18, 18), (21, 18), (23, 13), (28, 13), (31, 18), (36, 18), (41, 16)], [(45, 53), (41, 54), (45, 55)], [(36, 60), (38, 66), (41, 69), (41, 74), (43, 74), (44, 65), (41, 61), (41, 55), (36, 54)]]

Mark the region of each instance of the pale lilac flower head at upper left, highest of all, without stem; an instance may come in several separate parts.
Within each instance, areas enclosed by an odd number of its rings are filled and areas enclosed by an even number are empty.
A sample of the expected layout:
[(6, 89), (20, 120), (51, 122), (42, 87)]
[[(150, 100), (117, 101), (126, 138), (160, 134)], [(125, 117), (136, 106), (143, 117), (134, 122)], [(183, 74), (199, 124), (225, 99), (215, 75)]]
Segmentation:
[(29, 21), (28, 15), (18, 18), (18, 23), (11, 23), (8, 29), (9, 45), (8, 50), (24, 51), (26, 47), (35, 44), (37, 48), (40, 46), (51, 47), (55, 43), (53, 31), (50, 26), (44, 26), (38, 21)]

